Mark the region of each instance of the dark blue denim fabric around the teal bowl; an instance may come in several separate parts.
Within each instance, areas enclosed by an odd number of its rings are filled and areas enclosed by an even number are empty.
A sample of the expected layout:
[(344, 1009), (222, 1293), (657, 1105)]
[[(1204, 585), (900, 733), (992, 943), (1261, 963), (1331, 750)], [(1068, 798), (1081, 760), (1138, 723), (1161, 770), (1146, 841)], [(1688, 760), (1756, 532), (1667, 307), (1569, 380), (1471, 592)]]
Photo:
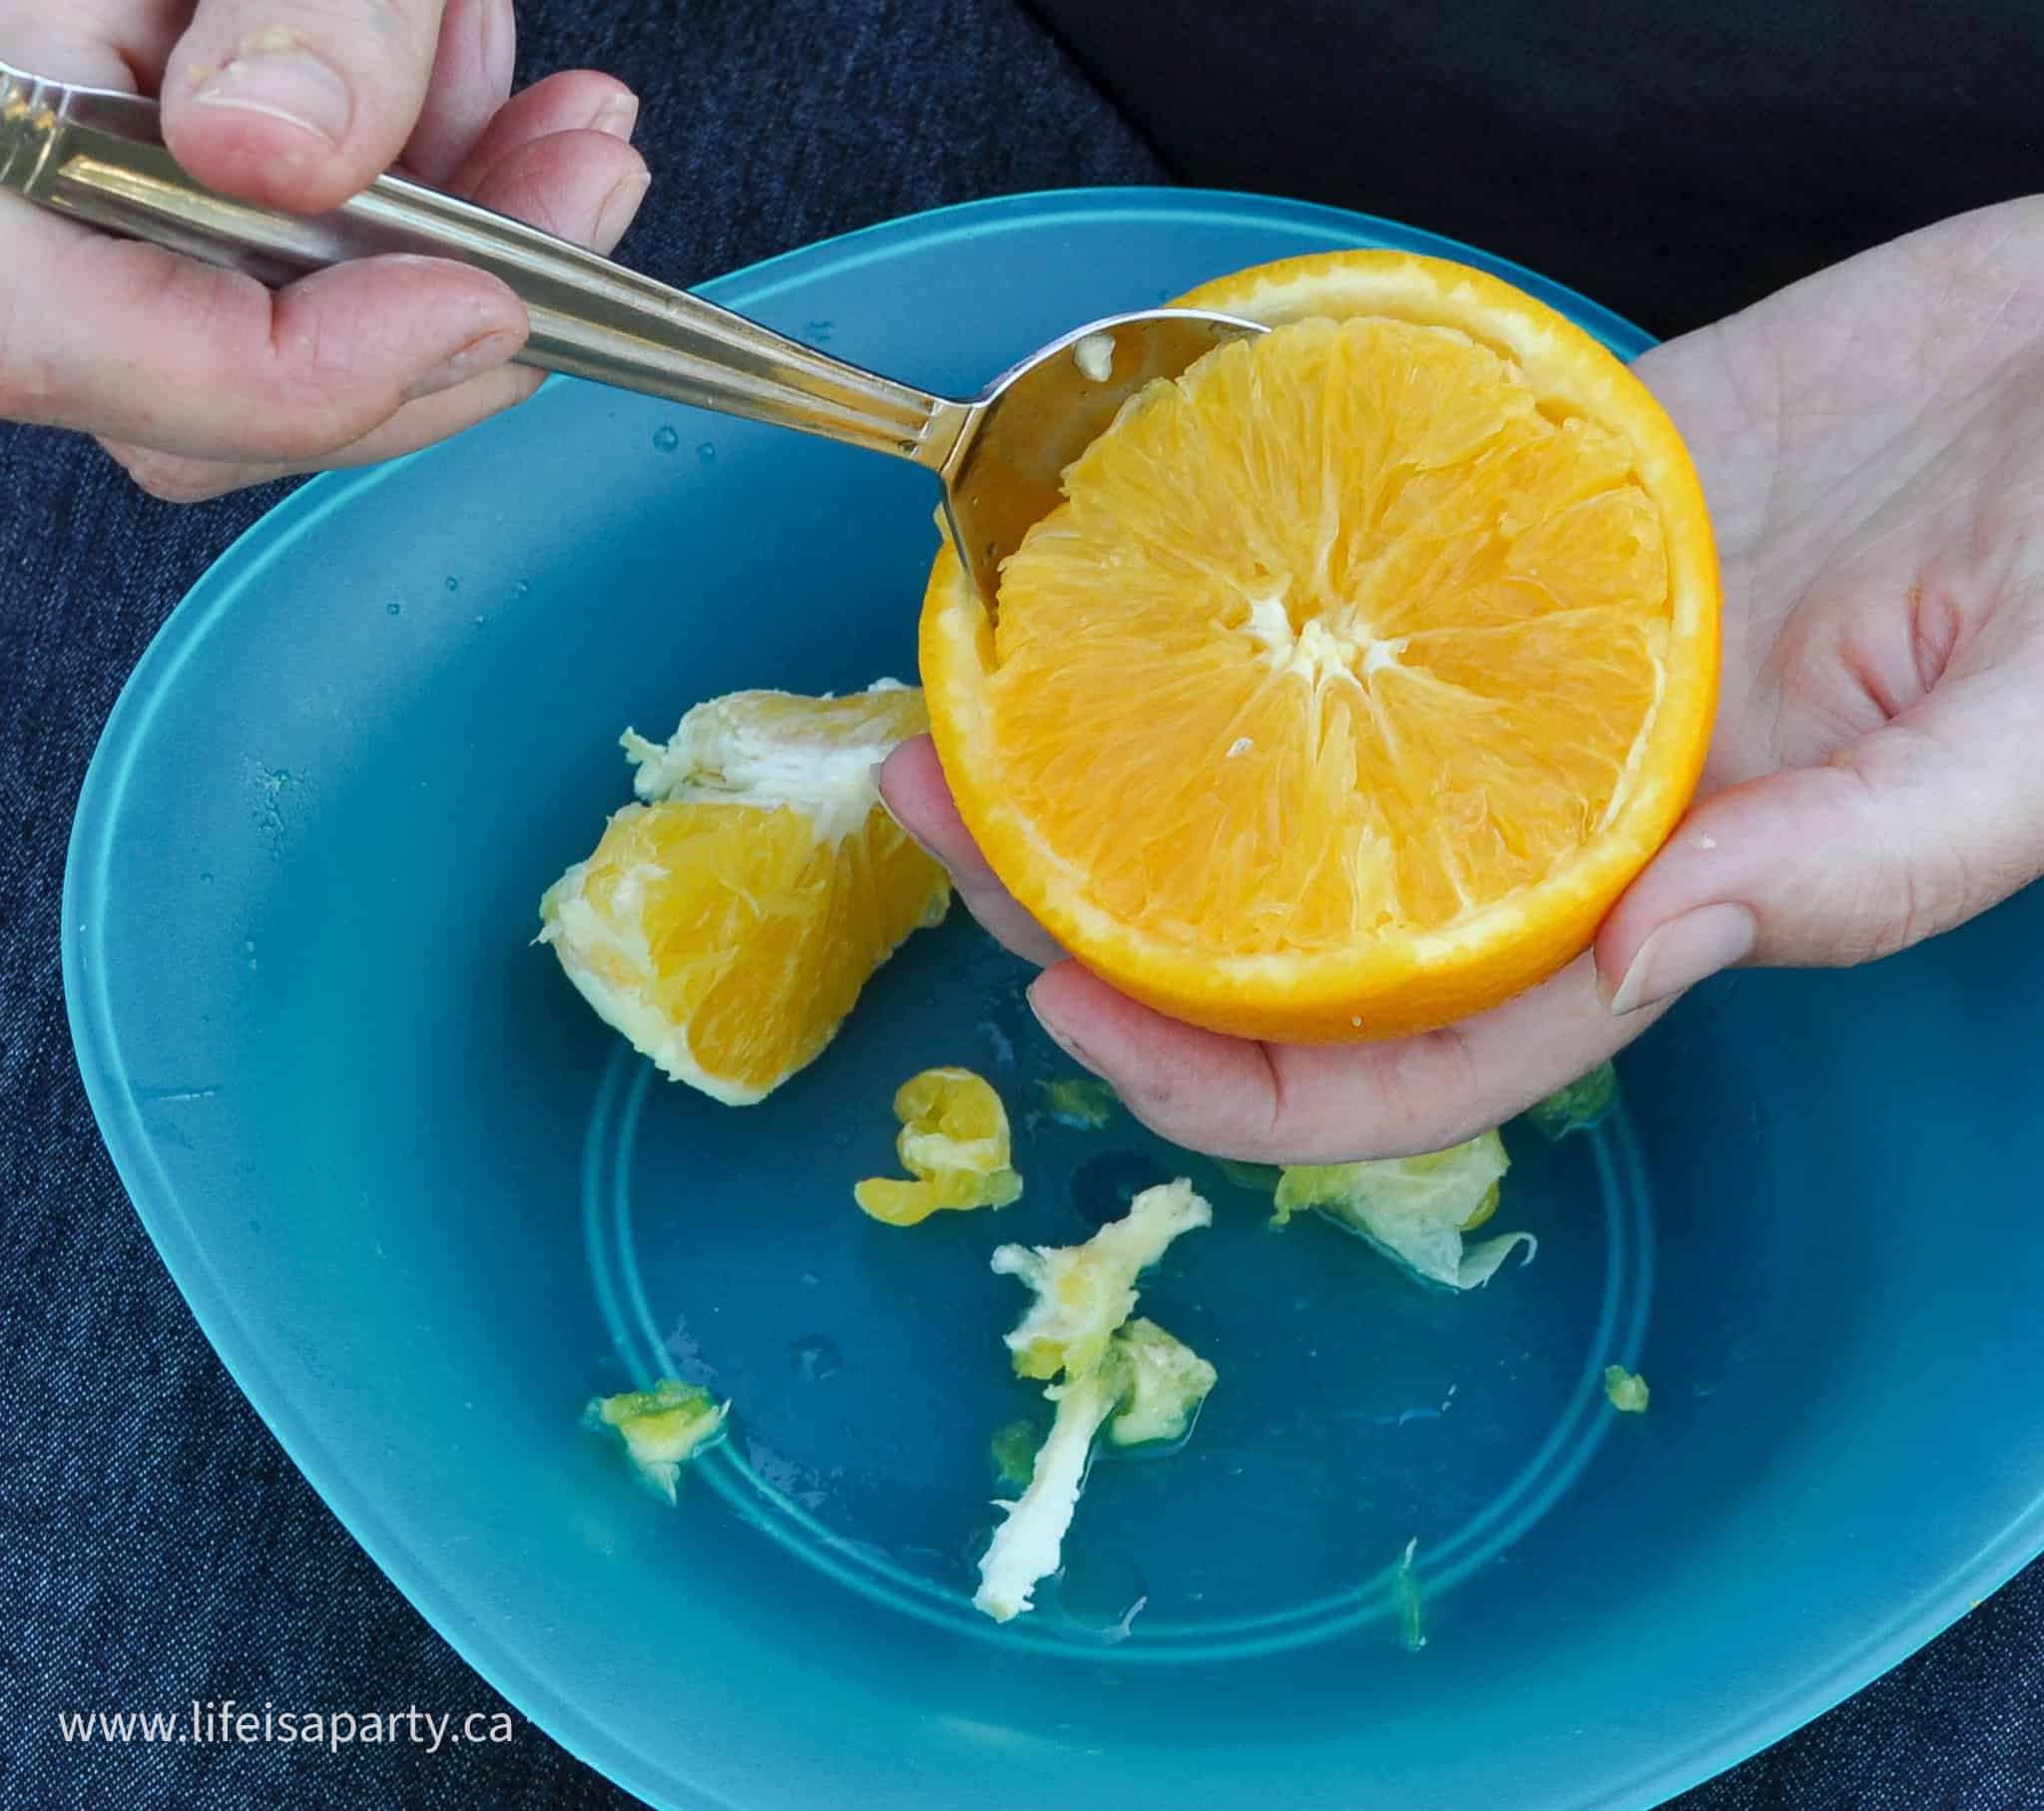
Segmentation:
[[(1200, 174), (1165, 170), (1016, 0), (527, 6), (523, 80), (568, 63), (644, 96), (658, 180), (623, 256), (675, 282), (938, 202)], [(431, 1758), (57, 1742), (57, 1709), (194, 1694), (501, 1707), (221, 1372), (114, 1179), (63, 1024), (57, 895), (92, 742), (180, 593), (280, 493), (172, 509), (27, 429), (0, 429), (0, 1805), (625, 1805), (523, 1719), (509, 1746)], [(2034, 1568), (1682, 1807), (2044, 1807), (2040, 1692)]]

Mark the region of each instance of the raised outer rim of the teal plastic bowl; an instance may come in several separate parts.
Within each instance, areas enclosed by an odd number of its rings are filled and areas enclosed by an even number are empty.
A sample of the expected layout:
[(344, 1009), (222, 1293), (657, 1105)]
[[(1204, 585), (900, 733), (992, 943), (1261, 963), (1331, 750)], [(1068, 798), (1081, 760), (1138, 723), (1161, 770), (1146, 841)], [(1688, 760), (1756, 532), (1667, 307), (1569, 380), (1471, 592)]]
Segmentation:
[[(789, 282), (811, 280), (869, 262), (901, 243), (975, 235), (1006, 225), (1051, 225), (1059, 219), (1079, 221), (1100, 215), (1126, 217), (1132, 208), (1151, 219), (1220, 219), (1241, 225), (1253, 217), (1273, 225), (1320, 225), (1339, 237), (1363, 239), (1365, 243), (1423, 245), (1427, 251), (1496, 272), (1549, 303), (1566, 305), (1576, 319), (1613, 343), (1625, 358), (1637, 358), (1656, 343), (1645, 329), (1600, 303), (1476, 245), (1353, 208), (1224, 188), (1128, 184), (1028, 190), (953, 202), (791, 247), (703, 282), (697, 292), (726, 307), (756, 307)], [(98, 901), (104, 893), (104, 869), (125, 777), (137, 744), (149, 728), (155, 701), (190, 650), (233, 603), (235, 587), (223, 574), (258, 556), (258, 540), (262, 542), (260, 556), (270, 558), (360, 491), (390, 480), (413, 458), (423, 456), (411, 454), (360, 472), (317, 476), (268, 509), (208, 564), (178, 601), (123, 685), (80, 787), (65, 854), (59, 957), (72, 1047), (86, 1100), (114, 1171), (161, 1255), (164, 1267), (192, 1310), (192, 1318), (300, 1476), (376, 1568), (468, 1666), (576, 1760), (646, 1803), (683, 1807), (683, 1811), (711, 1811), (711, 1807), (740, 1811), (730, 1801), (695, 1784), (683, 1784), (681, 1791), (687, 1797), (675, 1797), (675, 1782), (670, 1776), (662, 1776), (664, 1768), (658, 1760), (650, 1754), (642, 1756), (625, 1737), (597, 1723), (542, 1674), (505, 1654), (497, 1637), (474, 1623), (456, 1592), (442, 1588), (433, 1570), (388, 1527), (372, 1496), (354, 1486), (347, 1470), (327, 1451), (317, 1427), (296, 1412), (288, 1392), (258, 1355), (243, 1318), (233, 1306), (231, 1292), (215, 1278), (202, 1243), (186, 1224), (182, 1204), (155, 1161), (141, 1124), (139, 1102), (121, 1081), (121, 1040), (104, 993), (104, 965), (98, 961), (102, 953), (98, 930), (104, 922)], [(1609, 1789), (1598, 1803), (1652, 1807), (1758, 1754), (1899, 1666), (2007, 1584), (2040, 1553), (2044, 1553), (2044, 1494), (1960, 1562), (1942, 1584), (1919, 1592), (1870, 1631), (1864, 1641), (1827, 1668), (1817, 1670), (1799, 1688), (1778, 1692), (1764, 1705), (1731, 1717), (1686, 1750), (1652, 1762), (1631, 1780)]]

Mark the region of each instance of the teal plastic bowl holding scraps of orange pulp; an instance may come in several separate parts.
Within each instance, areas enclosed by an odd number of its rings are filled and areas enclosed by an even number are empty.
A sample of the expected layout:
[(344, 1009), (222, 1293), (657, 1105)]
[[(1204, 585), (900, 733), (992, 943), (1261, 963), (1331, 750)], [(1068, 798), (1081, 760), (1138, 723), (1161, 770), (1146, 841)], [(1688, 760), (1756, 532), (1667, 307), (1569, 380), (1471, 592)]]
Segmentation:
[[(1226, 194), (1026, 196), (709, 286), (938, 390), (1296, 251), (1490, 264)], [(924, 474), (556, 382), (309, 484), (176, 611), (65, 885), (80, 1065), (221, 1357), (390, 1578), (656, 1805), (1647, 1805), (1872, 1678), (2044, 1545), (2034, 1128), (2044, 903), (1854, 975), (1703, 989), (1625, 1110), (1506, 1128), (1539, 1257), (1431, 1294), (1063, 1073), (963, 916), (766, 1104), (668, 1085), (529, 946), (628, 797), (617, 732), (914, 666)], [(1026, 1198), (879, 1226), (895, 1083), (995, 1079)], [(1145, 1310), (1220, 1367), (1188, 1447), (1102, 1459), (1042, 1609), (969, 1609), (1002, 1239), (1190, 1173)], [(1609, 1361), (1654, 1384), (1615, 1417)], [(576, 1417), (736, 1402), (668, 1508)], [(1416, 1541), (1425, 1645), (1394, 1570)]]

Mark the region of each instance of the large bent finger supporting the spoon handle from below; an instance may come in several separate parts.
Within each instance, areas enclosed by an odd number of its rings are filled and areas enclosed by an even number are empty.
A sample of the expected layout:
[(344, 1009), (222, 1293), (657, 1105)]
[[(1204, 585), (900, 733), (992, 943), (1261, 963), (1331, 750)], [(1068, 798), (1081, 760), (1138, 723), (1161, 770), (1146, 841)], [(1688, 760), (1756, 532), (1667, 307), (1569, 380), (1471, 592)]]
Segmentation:
[[(200, 458), (296, 462), (509, 358), (497, 278), (370, 258), (286, 290), (35, 208), (8, 221), (0, 415)], [(4, 276), (0, 276), (4, 282)]]

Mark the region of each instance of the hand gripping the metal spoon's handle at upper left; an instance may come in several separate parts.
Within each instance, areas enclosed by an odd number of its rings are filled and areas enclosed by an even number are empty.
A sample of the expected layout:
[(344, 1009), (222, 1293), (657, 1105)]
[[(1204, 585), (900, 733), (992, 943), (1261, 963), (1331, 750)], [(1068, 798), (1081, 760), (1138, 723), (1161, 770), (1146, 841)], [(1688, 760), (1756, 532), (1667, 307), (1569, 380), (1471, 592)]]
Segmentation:
[[(646, 194), (638, 100), (576, 69), (511, 96), (511, 0), (0, 0), (0, 55), (159, 94), (200, 182), (319, 213), (392, 164), (609, 251)], [(493, 276), (366, 258), (270, 292), (0, 194), (0, 415), (98, 435), (194, 501), (384, 460), (527, 397)]]

